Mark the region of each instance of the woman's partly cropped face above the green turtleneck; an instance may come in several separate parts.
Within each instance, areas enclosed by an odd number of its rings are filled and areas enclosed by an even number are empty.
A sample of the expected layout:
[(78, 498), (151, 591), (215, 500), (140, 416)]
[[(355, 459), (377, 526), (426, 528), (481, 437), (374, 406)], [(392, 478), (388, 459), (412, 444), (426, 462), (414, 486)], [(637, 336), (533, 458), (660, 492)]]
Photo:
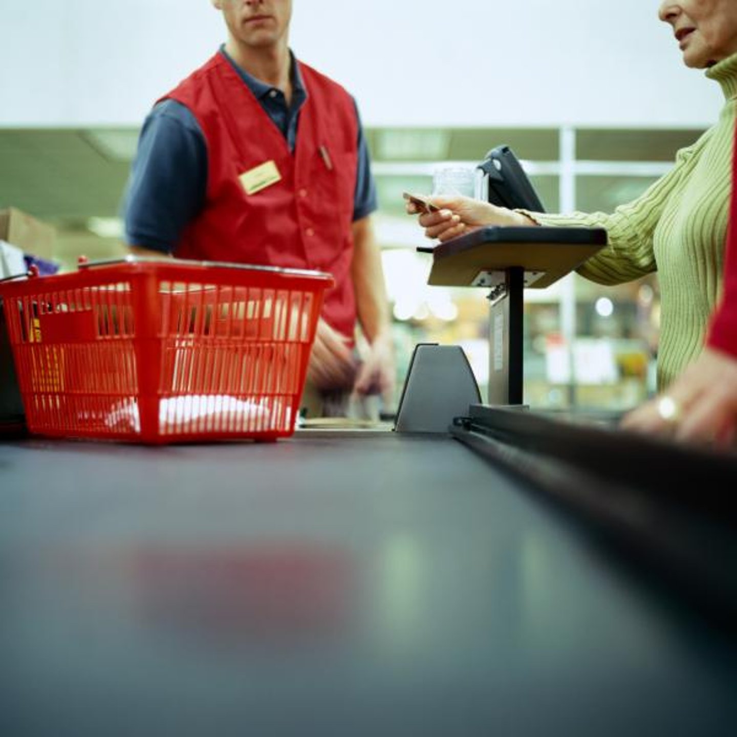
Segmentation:
[(663, 0), (658, 17), (673, 27), (686, 66), (704, 69), (737, 53), (737, 0)]

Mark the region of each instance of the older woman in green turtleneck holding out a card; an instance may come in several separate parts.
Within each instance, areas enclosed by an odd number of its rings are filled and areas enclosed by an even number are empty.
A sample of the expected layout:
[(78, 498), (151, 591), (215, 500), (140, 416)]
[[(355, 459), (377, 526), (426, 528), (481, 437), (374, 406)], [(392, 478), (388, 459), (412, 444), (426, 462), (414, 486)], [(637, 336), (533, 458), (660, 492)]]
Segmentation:
[[(660, 20), (674, 32), (686, 66), (706, 69), (726, 104), (719, 122), (677, 155), (674, 168), (613, 214), (512, 211), (469, 198), (435, 197), (439, 212), (421, 214), (430, 238), (449, 240), (475, 226), (592, 226), (609, 245), (579, 273), (620, 284), (658, 272), (661, 334), (658, 384), (665, 387), (702, 350), (719, 298), (737, 115), (737, 0), (663, 0)], [(408, 212), (417, 209), (410, 203)]]

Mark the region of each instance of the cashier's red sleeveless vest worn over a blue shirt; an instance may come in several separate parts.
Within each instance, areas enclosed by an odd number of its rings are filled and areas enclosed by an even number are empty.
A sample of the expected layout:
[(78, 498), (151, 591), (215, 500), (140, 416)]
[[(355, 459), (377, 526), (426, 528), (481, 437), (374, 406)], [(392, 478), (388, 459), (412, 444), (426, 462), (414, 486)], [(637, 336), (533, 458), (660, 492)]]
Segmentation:
[[(325, 295), (322, 314), (352, 337), (358, 121), (340, 85), (304, 64), (299, 69), (307, 101), (294, 153), (220, 53), (165, 96), (198, 120), (208, 156), (205, 206), (185, 228), (175, 255), (332, 273), (335, 287)], [(282, 180), (248, 195), (240, 176), (266, 161), (276, 164)]]

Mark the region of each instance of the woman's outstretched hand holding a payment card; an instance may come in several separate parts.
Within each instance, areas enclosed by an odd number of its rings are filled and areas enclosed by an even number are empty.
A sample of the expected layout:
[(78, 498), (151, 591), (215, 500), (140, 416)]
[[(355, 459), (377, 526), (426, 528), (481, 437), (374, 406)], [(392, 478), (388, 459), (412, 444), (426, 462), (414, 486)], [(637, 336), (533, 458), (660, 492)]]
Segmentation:
[[(455, 238), (481, 226), (534, 226), (534, 220), (506, 207), (497, 207), (489, 202), (470, 197), (448, 197), (437, 195), (430, 201), (439, 212), (425, 212), (418, 218), (428, 238), (441, 242)], [(406, 206), (409, 214), (417, 214), (413, 203)]]

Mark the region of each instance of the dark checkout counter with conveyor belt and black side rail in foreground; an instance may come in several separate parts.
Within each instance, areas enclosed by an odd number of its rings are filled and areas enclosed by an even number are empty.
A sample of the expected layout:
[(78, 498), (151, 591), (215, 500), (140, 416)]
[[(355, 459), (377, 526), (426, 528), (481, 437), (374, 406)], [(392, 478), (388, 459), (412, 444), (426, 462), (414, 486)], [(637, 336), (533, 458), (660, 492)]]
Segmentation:
[(737, 733), (733, 455), (399, 420), (0, 443), (0, 733)]

